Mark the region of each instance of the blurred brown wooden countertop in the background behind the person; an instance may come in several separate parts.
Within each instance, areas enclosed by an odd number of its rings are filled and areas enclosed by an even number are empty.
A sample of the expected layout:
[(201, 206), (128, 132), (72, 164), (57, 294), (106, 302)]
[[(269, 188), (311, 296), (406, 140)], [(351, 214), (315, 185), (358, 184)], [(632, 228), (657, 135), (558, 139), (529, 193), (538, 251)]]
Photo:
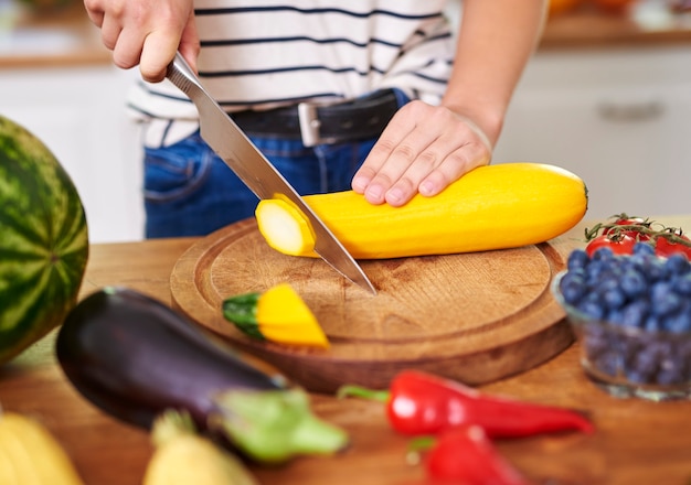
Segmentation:
[[(641, 4), (652, 2), (644, 0)], [(585, 6), (550, 19), (539, 50), (684, 44), (691, 42), (690, 15), (659, 9), (645, 14), (606, 14)], [(0, 32), (0, 69), (110, 62), (110, 52), (78, 0), (61, 10), (22, 15), (9, 37)]]

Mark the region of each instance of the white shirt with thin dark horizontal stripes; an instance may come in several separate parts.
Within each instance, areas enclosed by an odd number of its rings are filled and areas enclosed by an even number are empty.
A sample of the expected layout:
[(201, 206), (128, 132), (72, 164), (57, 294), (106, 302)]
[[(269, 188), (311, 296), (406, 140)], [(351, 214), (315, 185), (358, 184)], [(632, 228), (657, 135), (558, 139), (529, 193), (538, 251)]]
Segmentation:
[[(200, 79), (228, 112), (350, 99), (390, 87), (438, 104), (454, 56), (445, 4), (195, 0)], [(138, 82), (128, 107), (158, 126), (147, 133), (148, 146), (172, 143), (198, 128), (194, 105), (168, 80)]]

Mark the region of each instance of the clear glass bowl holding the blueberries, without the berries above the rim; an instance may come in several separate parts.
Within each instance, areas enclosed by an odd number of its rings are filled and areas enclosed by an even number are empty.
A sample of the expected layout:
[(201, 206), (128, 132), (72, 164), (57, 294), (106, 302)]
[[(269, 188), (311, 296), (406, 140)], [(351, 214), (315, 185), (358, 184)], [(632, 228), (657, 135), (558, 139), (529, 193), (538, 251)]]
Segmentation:
[(691, 398), (690, 332), (651, 332), (593, 320), (564, 301), (564, 274), (553, 279), (552, 294), (566, 312), (581, 345), (581, 364), (595, 385), (618, 398)]

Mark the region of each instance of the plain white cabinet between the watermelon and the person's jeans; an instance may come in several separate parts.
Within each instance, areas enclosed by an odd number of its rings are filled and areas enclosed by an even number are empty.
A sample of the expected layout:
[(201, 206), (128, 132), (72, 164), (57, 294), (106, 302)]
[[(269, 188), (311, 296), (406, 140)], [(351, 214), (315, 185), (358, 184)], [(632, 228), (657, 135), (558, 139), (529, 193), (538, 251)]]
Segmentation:
[(141, 155), (125, 112), (137, 74), (108, 64), (0, 72), (0, 115), (39, 137), (70, 173), (92, 242), (143, 235)]

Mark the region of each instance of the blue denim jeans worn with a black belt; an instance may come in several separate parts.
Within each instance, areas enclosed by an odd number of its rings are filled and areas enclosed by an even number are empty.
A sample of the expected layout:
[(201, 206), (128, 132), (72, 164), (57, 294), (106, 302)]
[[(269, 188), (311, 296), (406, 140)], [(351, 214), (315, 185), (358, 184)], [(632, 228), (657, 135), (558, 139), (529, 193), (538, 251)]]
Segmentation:
[[(407, 103), (397, 91), (400, 105)], [(306, 148), (300, 140), (252, 138), (300, 195), (350, 190), (376, 139)], [(199, 132), (145, 149), (146, 237), (203, 236), (254, 216), (257, 197)]]

